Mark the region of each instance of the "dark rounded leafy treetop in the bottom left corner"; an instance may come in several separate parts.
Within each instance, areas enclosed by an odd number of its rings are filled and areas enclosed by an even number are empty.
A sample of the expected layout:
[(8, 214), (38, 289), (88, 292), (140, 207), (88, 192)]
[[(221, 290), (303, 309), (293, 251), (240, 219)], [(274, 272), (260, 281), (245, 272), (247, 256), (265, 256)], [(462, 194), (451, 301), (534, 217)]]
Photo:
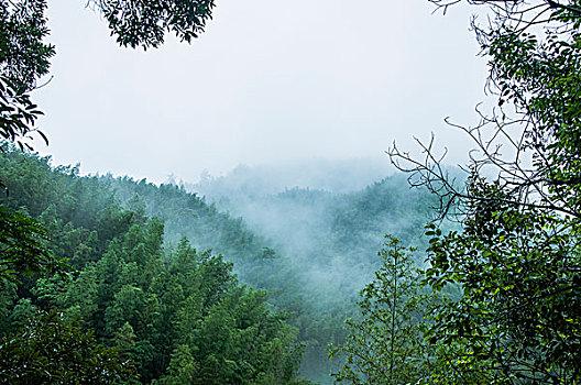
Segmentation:
[(78, 321), (39, 312), (0, 341), (0, 384), (132, 384), (133, 363), (98, 344)]

